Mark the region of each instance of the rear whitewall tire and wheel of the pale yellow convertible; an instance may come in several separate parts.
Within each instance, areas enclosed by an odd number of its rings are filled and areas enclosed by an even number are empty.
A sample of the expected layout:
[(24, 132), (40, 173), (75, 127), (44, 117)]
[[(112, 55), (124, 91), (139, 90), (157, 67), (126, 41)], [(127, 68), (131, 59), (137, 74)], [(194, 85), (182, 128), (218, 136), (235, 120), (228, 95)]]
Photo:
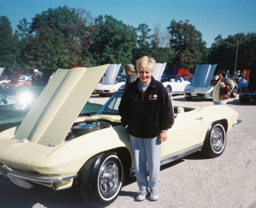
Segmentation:
[(217, 158), (224, 152), (225, 146), (226, 130), (224, 125), (219, 121), (213, 122), (205, 135), (204, 146), (201, 151), (208, 158)]

